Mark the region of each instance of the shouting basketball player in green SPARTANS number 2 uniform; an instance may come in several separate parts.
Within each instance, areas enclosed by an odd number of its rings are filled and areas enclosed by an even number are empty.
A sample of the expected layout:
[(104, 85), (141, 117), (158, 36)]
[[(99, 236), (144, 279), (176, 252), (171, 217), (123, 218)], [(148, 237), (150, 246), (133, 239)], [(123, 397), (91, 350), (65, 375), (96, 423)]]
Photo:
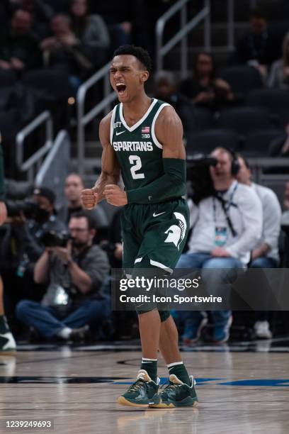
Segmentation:
[[(102, 172), (93, 189), (82, 191), (87, 209), (106, 199), (124, 206), (123, 268), (132, 278), (149, 269), (152, 276), (171, 272), (188, 233), (186, 155), (183, 127), (176, 111), (145, 93), (151, 71), (147, 51), (124, 45), (114, 52), (111, 85), (120, 104), (101, 121)], [(120, 171), (125, 191), (118, 187)], [(142, 310), (142, 309), (143, 310)], [(139, 306), (142, 362), (137, 379), (118, 404), (181, 407), (197, 404), (194, 379), (181, 360), (178, 332), (169, 311)], [(169, 368), (169, 386), (158, 394), (157, 352)]]

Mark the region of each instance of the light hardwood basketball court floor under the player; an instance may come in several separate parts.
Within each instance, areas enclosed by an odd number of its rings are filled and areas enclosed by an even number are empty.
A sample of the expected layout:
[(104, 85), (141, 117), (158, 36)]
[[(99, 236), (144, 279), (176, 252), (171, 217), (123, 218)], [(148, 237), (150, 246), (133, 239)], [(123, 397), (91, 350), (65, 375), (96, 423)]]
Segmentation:
[[(1, 433), (7, 421), (53, 420), (79, 433), (289, 433), (289, 338), (183, 348), (196, 376), (197, 408), (118, 406), (140, 365), (137, 342), (69, 347), (20, 345), (0, 357)], [(166, 367), (159, 360), (159, 375)], [(14, 430), (15, 431), (15, 430)], [(19, 431), (19, 430), (18, 430)]]

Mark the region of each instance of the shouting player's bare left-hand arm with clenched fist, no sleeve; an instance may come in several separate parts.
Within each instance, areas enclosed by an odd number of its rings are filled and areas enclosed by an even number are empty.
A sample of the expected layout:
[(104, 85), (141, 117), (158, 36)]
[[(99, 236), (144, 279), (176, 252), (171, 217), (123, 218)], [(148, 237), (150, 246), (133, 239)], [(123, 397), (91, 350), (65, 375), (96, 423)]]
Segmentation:
[[(92, 189), (81, 191), (81, 201), (86, 209), (92, 209), (98, 202), (106, 199), (103, 191), (107, 185), (117, 187), (120, 179), (120, 167), (110, 139), (111, 113), (102, 119), (99, 126), (99, 138), (103, 147), (101, 156), (101, 175)], [(118, 187), (119, 189), (119, 187)], [(120, 190), (121, 191), (121, 190)]]

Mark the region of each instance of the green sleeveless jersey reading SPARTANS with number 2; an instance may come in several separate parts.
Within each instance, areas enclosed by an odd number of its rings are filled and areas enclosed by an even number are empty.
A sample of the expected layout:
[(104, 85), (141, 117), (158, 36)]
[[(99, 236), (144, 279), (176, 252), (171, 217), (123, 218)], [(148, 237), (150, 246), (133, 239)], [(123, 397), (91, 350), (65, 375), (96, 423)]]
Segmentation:
[(125, 190), (139, 189), (164, 174), (162, 144), (154, 133), (157, 116), (169, 104), (152, 99), (147, 113), (129, 127), (123, 116), (123, 104), (113, 109), (111, 145), (115, 150)]

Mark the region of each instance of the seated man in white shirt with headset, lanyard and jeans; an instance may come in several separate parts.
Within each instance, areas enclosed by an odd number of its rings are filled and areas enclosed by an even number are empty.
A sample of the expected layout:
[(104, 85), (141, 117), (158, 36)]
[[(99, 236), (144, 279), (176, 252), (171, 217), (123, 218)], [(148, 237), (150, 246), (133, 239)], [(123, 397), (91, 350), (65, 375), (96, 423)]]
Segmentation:
[[(215, 195), (191, 204), (193, 232), (188, 240), (188, 252), (181, 255), (178, 268), (201, 268), (209, 294), (227, 298), (227, 288), (235, 272), (229, 269), (246, 267), (250, 252), (261, 237), (262, 208), (254, 189), (236, 180), (237, 157), (225, 148), (216, 148), (212, 157), (217, 165), (210, 167)], [(208, 272), (214, 269), (214, 272)], [(225, 269), (225, 271), (224, 271)], [(218, 271), (220, 270), (220, 271)], [(224, 343), (229, 338), (231, 311), (211, 311), (212, 340)], [(185, 320), (183, 340), (196, 342), (208, 322), (205, 312), (179, 312)]]

